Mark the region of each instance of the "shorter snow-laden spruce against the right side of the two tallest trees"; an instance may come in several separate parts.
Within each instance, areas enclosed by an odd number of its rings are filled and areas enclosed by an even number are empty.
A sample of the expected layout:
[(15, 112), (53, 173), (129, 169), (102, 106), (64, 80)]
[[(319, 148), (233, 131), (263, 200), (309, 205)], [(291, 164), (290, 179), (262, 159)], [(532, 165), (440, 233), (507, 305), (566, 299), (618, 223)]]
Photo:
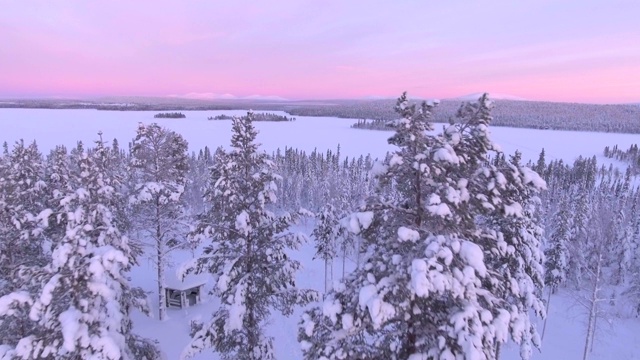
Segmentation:
[[(520, 345), (520, 356), (527, 359), (533, 347), (541, 345), (529, 313), (531, 310), (538, 316), (546, 313), (542, 301), (544, 231), (537, 216), (541, 203), (537, 194), (546, 189), (546, 183), (520, 161), (521, 155), (516, 152), (496, 169), (490, 167), (494, 174), (488, 186), (479, 184), (478, 190), (489, 190), (485, 195), (496, 209), (485, 214), (492, 225), (478, 244), (485, 250), (487, 268), (495, 271), (493, 279), (488, 279), (484, 286), (502, 301), (493, 311), (509, 313), (506, 329)], [(480, 196), (475, 198), (479, 200)], [(487, 204), (484, 199), (481, 201), (477, 206), (485, 208)], [(499, 358), (506, 334), (498, 335), (497, 340), (495, 357)]]

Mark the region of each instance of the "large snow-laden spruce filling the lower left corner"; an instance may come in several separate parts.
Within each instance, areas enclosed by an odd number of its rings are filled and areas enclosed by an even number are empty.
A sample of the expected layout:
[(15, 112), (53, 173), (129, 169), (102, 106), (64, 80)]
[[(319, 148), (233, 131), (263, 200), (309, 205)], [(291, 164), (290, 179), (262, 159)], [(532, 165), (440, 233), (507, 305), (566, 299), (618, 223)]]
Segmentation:
[[(34, 292), (18, 291), (0, 298), (0, 317), (15, 316), (29, 305), (34, 322), (13, 349), (20, 359), (153, 359), (157, 351), (139, 355), (144, 342), (130, 333), (128, 305), (132, 289), (124, 272), (131, 262), (128, 240), (115, 226), (114, 188), (105, 168), (106, 150), (98, 142), (92, 156), (77, 156), (73, 190), (60, 200), (58, 216), (66, 233), (54, 242), (50, 262), (22, 268), (19, 277), (37, 284)], [(37, 220), (46, 226), (49, 212)], [(136, 341), (131, 341), (136, 340)], [(153, 347), (153, 346), (151, 346)]]

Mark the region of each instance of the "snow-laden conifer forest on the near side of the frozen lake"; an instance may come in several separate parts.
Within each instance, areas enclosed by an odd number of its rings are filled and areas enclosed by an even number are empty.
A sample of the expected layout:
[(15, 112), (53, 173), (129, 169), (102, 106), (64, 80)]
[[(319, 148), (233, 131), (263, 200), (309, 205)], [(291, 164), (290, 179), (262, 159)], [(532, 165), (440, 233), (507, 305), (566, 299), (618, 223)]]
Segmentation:
[[(384, 159), (264, 153), (253, 113), (233, 118), (230, 150), (189, 153), (157, 124), (124, 147), (101, 133), (46, 156), (5, 142), (0, 358), (160, 358), (130, 314), (152, 301), (166, 317), (164, 269), (186, 248), (196, 256), (181, 274), (211, 274), (221, 306), (191, 324), (185, 359), (205, 348), (273, 359), (265, 325), (301, 307), (305, 359), (497, 359), (508, 342), (528, 359), (544, 336), (535, 318), (560, 290), (587, 314), (586, 358), (599, 322), (640, 314), (637, 146), (603, 149), (626, 170), (544, 150), (523, 163), (492, 142), (486, 95), (432, 134), (440, 106), (403, 94)], [(591, 126), (602, 122), (635, 131)], [(292, 230), (304, 219), (310, 237)], [(325, 262), (322, 293), (296, 285), (302, 264), (288, 256), (308, 241)], [(347, 256), (357, 266), (334, 277)], [(128, 277), (143, 258), (158, 274), (153, 299)]]

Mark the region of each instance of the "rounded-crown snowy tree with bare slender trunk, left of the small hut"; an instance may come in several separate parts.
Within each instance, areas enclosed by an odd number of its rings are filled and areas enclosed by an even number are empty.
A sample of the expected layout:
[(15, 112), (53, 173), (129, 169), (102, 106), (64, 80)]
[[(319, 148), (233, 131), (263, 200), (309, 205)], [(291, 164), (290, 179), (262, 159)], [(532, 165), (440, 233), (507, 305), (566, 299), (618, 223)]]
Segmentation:
[(153, 250), (160, 320), (167, 316), (164, 277), (171, 252), (187, 244), (182, 198), (188, 171), (187, 148), (182, 136), (158, 124), (140, 124), (133, 140), (130, 166), (136, 184), (129, 201), (135, 214), (134, 227), (143, 234), (141, 243)]

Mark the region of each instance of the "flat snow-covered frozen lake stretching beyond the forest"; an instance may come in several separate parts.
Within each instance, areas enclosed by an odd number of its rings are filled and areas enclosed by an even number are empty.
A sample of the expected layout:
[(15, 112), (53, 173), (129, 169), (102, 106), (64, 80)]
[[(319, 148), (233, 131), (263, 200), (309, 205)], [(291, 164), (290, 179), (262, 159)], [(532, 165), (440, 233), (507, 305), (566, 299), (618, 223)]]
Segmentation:
[[(98, 131), (105, 141), (117, 138), (123, 148), (135, 136), (139, 122), (156, 122), (182, 134), (190, 149), (197, 151), (204, 146), (212, 149), (229, 144), (230, 120), (209, 121), (207, 117), (226, 114), (244, 115), (246, 110), (181, 111), (186, 119), (154, 119), (159, 111), (98, 111), (98, 110), (50, 110), (50, 109), (0, 109), (0, 141), (9, 144), (18, 139), (27, 142), (37, 140), (43, 153), (58, 144), (75, 146), (78, 140), (91, 144)], [(284, 112), (270, 111), (280, 115)], [(393, 147), (387, 144), (391, 132), (352, 129), (355, 119), (331, 117), (296, 117), (293, 122), (256, 122), (260, 131), (258, 140), (268, 152), (277, 148), (293, 147), (305, 151), (317, 148), (335, 150), (338, 144), (345, 156), (370, 153), (383, 157)], [(436, 124), (439, 130), (443, 125)], [(637, 134), (612, 134), (577, 131), (538, 130), (492, 127), (492, 137), (510, 154), (520, 150), (525, 160), (537, 159), (545, 148), (547, 160), (573, 161), (579, 155), (593, 155), (603, 159), (605, 146), (618, 145), (627, 148), (637, 143)]]

